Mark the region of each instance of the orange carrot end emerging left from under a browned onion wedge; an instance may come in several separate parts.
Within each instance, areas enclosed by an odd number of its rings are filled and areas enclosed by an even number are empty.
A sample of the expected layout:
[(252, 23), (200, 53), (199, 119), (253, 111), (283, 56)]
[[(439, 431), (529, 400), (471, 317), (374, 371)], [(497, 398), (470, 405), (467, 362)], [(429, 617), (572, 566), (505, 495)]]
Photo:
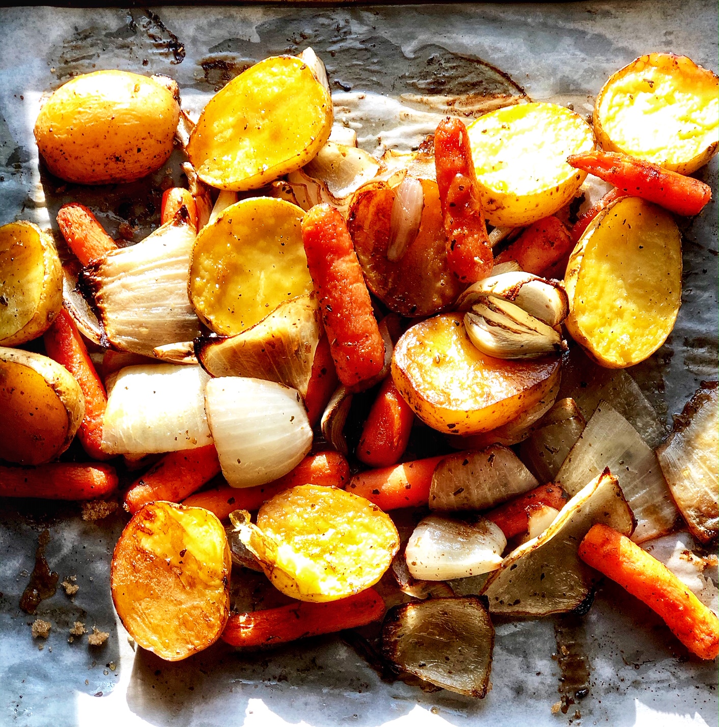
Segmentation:
[(427, 505), (432, 475), (438, 462), (445, 457), (443, 454), (381, 470), (367, 470), (355, 475), (345, 490), (369, 499), (385, 511)]

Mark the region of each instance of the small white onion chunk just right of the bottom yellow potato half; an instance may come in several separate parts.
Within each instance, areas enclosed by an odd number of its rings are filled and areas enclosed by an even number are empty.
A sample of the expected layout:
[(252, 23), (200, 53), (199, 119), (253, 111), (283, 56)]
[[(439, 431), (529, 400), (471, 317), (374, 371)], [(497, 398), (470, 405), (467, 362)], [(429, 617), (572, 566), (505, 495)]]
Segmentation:
[(505, 534), (489, 520), (470, 524), (429, 515), (409, 537), (405, 557), (412, 577), (446, 581), (497, 570), (505, 547)]

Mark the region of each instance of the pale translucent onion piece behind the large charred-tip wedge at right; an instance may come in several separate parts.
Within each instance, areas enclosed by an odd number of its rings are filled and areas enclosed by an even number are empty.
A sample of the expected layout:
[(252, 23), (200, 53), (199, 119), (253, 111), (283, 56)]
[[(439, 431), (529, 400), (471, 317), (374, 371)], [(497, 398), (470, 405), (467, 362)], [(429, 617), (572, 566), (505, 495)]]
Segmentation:
[(654, 451), (627, 419), (600, 401), (555, 482), (573, 495), (605, 467), (616, 473), (637, 519), (632, 540), (641, 543), (674, 529), (679, 513)]

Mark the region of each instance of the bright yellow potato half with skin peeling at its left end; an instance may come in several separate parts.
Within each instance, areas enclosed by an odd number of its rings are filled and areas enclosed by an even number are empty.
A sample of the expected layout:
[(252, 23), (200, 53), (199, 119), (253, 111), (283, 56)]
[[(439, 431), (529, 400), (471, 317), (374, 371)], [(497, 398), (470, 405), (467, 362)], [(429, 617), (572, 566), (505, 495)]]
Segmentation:
[(389, 515), (334, 487), (300, 485), (260, 507), (257, 525), (239, 525), (242, 542), (282, 593), (337, 601), (374, 585), (399, 549)]

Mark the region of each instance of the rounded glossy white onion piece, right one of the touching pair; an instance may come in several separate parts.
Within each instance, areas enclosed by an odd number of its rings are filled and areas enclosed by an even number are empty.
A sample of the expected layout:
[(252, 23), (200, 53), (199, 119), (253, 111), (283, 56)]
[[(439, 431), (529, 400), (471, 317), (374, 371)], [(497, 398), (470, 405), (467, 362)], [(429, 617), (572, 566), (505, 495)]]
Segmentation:
[(222, 474), (233, 487), (286, 475), (312, 447), (302, 398), (288, 386), (246, 377), (211, 379), (205, 408)]

